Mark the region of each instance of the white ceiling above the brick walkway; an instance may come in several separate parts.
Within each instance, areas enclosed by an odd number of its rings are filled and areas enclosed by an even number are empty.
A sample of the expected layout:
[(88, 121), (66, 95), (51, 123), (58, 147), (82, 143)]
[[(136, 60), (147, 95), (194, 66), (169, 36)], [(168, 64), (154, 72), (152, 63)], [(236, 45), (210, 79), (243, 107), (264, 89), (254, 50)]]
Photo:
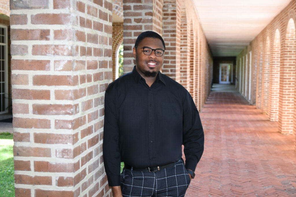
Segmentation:
[(193, 0), (213, 56), (237, 56), (291, 0)]

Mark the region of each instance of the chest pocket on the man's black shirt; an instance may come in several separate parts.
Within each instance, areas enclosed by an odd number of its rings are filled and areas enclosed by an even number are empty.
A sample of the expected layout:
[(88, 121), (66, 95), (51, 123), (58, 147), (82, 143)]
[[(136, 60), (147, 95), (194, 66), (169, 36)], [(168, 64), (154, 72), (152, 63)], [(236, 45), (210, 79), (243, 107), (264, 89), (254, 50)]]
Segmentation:
[(167, 120), (178, 120), (182, 117), (180, 106), (173, 102), (162, 102), (161, 114)]

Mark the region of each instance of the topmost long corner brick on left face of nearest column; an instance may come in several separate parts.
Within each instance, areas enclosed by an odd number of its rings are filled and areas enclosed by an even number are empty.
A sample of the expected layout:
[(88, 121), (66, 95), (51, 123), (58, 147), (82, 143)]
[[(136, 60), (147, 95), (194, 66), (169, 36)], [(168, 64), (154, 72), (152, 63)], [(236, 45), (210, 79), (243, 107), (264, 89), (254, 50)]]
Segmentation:
[(71, 25), (70, 14), (36, 14), (31, 15), (32, 24), (45, 24), (45, 25)]

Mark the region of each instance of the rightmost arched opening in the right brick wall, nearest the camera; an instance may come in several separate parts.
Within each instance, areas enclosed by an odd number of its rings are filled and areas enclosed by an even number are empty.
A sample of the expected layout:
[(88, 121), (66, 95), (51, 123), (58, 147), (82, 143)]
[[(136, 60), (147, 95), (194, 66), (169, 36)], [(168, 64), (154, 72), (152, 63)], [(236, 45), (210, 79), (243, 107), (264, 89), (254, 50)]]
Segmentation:
[(280, 68), (279, 84), (279, 131), (281, 133), (292, 133), (293, 110), (295, 94), (295, 69), (296, 69), (296, 35), (295, 22), (289, 19)]

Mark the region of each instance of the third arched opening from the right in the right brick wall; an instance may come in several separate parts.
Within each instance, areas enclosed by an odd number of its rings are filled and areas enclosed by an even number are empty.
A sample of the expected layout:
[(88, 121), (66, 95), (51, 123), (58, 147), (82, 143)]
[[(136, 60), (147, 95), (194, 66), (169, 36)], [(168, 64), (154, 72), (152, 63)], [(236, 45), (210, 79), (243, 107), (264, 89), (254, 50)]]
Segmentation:
[(268, 113), (268, 97), (269, 97), (269, 67), (270, 67), (270, 41), (269, 37), (266, 38), (264, 61), (262, 67), (262, 100), (261, 109), (262, 113)]

